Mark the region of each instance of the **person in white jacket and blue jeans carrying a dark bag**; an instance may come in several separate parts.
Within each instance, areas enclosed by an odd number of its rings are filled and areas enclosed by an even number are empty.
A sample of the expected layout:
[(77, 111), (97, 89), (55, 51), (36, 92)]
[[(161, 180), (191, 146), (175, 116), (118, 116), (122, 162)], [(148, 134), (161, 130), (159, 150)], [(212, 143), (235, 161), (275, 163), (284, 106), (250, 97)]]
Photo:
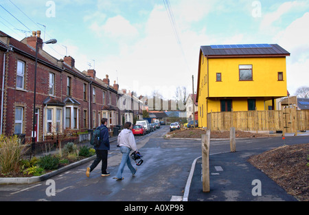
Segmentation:
[(127, 164), (133, 176), (135, 175), (137, 169), (133, 168), (130, 161), (130, 151), (137, 152), (137, 146), (135, 142), (135, 137), (132, 133), (133, 124), (130, 122), (126, 122), (124, 124), (124, 130), (118, 135), (118, 146), (120, 147), (120, 151), (122, 152), (122, 162), (117, 171), (117, 175), (114, 179), (123, 180), (122, 172), (124, 172), (124, 166)]

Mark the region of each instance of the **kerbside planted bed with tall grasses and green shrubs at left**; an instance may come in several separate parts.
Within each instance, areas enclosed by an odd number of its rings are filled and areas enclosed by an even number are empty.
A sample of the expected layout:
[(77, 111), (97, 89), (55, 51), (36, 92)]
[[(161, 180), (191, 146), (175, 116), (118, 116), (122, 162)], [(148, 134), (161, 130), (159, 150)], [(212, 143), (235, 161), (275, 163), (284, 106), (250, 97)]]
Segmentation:
[(43, 157), (29, 157), (26, 154), (30, 144), (20, 144), (16, 135), (0, 136), (0, 177), (32, 177), (52, 172), (58, 168), (75, 163), (95, 155), (95, 150), (89, 146), (77, 146), (68, 142), (57, 153)]

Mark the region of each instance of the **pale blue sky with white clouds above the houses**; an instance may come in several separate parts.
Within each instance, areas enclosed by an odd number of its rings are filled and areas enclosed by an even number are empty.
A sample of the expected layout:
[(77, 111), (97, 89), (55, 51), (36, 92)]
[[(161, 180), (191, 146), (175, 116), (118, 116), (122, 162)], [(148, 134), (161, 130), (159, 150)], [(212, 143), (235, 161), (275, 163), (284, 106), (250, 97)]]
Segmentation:
[(41, 30), (45, 41), (58, 41), (44, 45), (52, 56), (72, 56), (80, 71), (95, 69), (119, 89), (164, 99), (176, 87), (192, 93), (192, 76), (196, 92), (202, 45), (251, 43), (290, 52), (294, 95), (309, 86), (308, 26), (308, 0), (0, 0), (1, 31), (22, 40)]

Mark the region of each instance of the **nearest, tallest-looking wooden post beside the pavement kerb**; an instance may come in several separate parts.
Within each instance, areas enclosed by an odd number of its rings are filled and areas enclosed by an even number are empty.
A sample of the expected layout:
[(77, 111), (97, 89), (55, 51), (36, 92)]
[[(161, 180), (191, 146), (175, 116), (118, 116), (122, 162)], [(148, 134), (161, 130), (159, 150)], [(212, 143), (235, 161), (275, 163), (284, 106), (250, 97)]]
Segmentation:
[(202, 135), (202, 166), (203, 166), (203, 192), (209, 192), (209, 145), (210, 129), (207, 129), (206, 135)]

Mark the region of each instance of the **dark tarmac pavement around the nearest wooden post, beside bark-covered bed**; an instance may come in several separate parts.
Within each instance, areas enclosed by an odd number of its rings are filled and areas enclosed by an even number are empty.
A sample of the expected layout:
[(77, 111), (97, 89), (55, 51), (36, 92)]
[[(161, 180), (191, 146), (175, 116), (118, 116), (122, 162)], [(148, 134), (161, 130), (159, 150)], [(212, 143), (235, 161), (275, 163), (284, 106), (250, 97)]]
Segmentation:
[(247, 161), (262, 152), (242, 150), (210, 155), (208, 193), (203, 192), (202, 159), (196, 159), (188, 201), (297, 201)]

